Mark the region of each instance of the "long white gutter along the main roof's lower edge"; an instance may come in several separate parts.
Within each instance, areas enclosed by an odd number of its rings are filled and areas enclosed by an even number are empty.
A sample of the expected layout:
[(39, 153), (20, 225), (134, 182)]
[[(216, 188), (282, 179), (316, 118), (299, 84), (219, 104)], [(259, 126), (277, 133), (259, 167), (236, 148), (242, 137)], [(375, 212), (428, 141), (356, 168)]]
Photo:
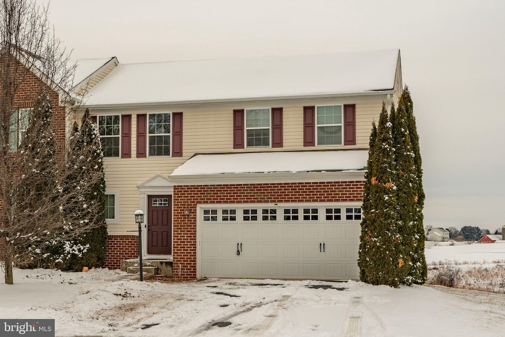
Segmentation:
[(363, 91), (363, 92), (341, 92), (341, 93), (325, 93), (325, 94), (310, 94), (310, 95), (293, 95), (293, 96), (277, 96), (277, 97), (260, 97), (260, 98), (240, 98), (240, 99), (217, 99), (217, 100), (196, 100), (196, 101), (176, 101), (176, 102), (147, 102), (147, 103), (118, 103), (118, 104), (96, 104), (82, 105), (79, 108), (102, 110), (102, 109), (125, 109), (125, 108), (158, 108), (158, 107), (183, 107), (183, 106), (209, 106), (222, 105), (233, 103), (262, 103), (262, 102), (292, 102), (300, 100), (321, 100), (321, 99), (336, 99), (336, 98), (363, 98), (377, 97), (393, 94), (394, 90), (383, 91)]

